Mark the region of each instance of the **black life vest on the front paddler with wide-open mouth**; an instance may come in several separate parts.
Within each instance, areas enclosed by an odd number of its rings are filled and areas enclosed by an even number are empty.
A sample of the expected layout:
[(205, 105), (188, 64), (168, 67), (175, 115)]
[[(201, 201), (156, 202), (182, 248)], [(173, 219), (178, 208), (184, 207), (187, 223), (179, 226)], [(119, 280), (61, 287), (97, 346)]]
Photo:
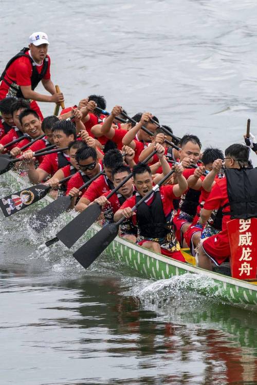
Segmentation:
[[(137, 192), (136, 203), (141, 198), (141, 195)], [(137, 223), (140, 235), (145, 238), (164, 238), (169, 233), (160, 191), (154, 192), (154, 199), (150, 206), (143, 202), (137, 207)]]

